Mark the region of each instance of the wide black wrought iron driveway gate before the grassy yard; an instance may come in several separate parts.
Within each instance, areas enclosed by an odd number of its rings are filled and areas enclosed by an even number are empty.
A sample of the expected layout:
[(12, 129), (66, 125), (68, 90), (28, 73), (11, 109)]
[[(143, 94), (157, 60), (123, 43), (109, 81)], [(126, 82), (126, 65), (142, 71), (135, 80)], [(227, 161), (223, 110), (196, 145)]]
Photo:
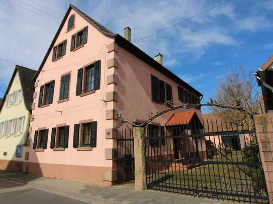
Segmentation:
[(147, 131), (148, 188), (267, 203), (255, 131), (212, 121), (207, 127), (185, 123)]

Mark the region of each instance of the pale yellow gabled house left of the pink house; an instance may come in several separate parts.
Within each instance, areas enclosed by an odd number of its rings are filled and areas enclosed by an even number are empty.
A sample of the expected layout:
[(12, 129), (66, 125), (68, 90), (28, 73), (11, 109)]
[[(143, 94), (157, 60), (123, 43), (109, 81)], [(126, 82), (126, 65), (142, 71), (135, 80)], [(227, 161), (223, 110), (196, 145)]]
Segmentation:
[(16, 65), (0, 105), (0, 169), (21, 171), (28, 145), (36, 71)]

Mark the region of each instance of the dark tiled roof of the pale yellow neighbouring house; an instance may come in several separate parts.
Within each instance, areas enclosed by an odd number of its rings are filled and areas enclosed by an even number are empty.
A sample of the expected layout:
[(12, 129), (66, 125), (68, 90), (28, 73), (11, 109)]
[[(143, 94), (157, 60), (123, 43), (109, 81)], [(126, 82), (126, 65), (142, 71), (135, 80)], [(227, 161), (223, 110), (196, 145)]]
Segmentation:
[(7, 90), (6, 90), (3, 101), (0, 104), (0, 111), (2, 110), (2, 107), (4, 105), (4, 101), (7, 98), (7, 94), (9, 93), (9, 90), (13, 84), (13, 80), (16, 76), (17, 71), (19, 73), (19, 78), (20, 78), (20, 82), (21, 82), (21, 86), (22, 86), (22, 90), (23, 90), (23, 97), (24, 97), (26, 108), (29, 111), (31, 111), (31, 106), (32, 106), (32, 101), (33, 101), (32, 97), (33, 97), (33, 93), (34, 93), (34, 81), (32, 81), (32, 78), (34, 77), (36, 71), (26, 68), (26, 67), (19, 66), (19, 65), (15, 66), (15, 70), (13, 72), (11, 81), (9, 83)]

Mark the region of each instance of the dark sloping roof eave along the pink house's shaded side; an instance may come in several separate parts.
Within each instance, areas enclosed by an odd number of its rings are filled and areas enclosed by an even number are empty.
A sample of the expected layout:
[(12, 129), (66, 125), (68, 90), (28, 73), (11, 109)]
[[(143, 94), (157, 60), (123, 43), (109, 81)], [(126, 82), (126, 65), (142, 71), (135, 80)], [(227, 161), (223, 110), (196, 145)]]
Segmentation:
[(127, 41), (125, 38), (120, 36), (119, 34), (116, 34), (115, 37), (115, 43), (119, 45), (121, 48), (125, 49), (138, 59), (142, 60), (143, 62), (147, 63), (151, 67), (153, 67), (158, 72), (162, 73), (169, 79), (172, 79), (180, 86), (183, 86), (187, 90), (191, 91), (192, 93), (196, 94), (197, 96), (203, 96), (199, 91), (197, 91), (195, 88), (193, 88), (191, 85), (187, 84), (185, 81), (181, 80), (179, 77), (177, 77), (175, 74), (173, 74), (171, 71), (169, 71), (167, 68), (156, 62), (153, 58), (151, 58), (149, 55), (147, 55), (145, 52), (140, 50), (138, 47)]

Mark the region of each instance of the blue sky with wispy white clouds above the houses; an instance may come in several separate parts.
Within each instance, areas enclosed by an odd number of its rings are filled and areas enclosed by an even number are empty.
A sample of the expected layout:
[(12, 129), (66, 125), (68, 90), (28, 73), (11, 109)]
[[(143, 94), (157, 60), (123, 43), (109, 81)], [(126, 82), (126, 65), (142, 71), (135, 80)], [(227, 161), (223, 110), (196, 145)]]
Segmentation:
[[(37, 69), (70, 3), (114, 33), (123, 35), (131, 27), (134, 42), (223, 2), (5, 0), (0, 8), (0, 58)], [(243, 66), (254, 74), (269, 58), (272, 17), (273, 0), (233, 0), (135, 45), (151, 57), (158, 48), (165, 67), (203, 93), (202, 102), (207, 102), (228, 70)], [(0, 97), (14, 66), (0, 60)]]

